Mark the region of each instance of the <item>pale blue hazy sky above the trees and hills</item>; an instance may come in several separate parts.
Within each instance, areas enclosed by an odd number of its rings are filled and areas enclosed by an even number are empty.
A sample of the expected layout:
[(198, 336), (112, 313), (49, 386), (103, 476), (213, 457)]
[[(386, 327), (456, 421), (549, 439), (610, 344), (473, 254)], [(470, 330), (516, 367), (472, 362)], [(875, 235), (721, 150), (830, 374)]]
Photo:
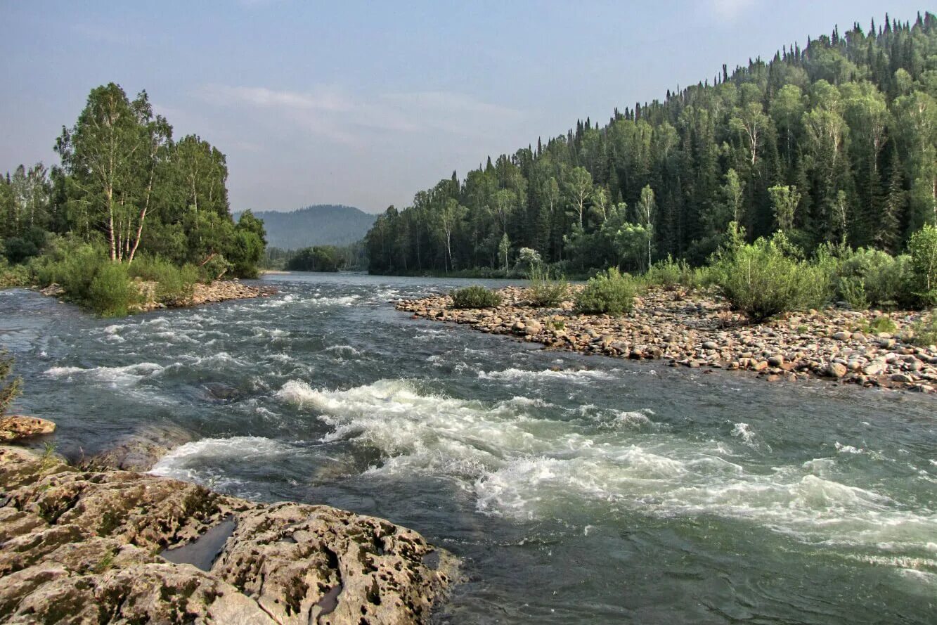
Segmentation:
[[(919, 1), (919, 0), (918, 0)], [(12, 2), (0, 171), (52, 151), (92, 88), (145, 89), (228, 156), (231, 210), (377, 213), (577, 119), (770, 58), (904, 0)]]

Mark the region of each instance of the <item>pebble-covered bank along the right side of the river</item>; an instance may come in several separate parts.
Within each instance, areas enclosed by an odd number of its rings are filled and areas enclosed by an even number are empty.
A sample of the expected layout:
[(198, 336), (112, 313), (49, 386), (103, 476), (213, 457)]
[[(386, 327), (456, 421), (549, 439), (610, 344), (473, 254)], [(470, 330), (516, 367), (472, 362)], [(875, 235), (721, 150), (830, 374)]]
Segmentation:
[(825, 378), (924, 393), (937, 389), (937, 347), (913, 342), (920, 313), (893, 312), (889, 319), (896, 329), (874, 332), (883, 313), (840, 308), (749, 324), (713, 292), (648, 290), (621, 318), (576, 314), (572, 300), (535, 308), (528, 305), (526, 289), (498, 292), (497, 308), (454, 309), (448, 295), (403, 300), (396, 308), (414, 318), (463, 323), (552, 350), (748, 370), (771, 381)]

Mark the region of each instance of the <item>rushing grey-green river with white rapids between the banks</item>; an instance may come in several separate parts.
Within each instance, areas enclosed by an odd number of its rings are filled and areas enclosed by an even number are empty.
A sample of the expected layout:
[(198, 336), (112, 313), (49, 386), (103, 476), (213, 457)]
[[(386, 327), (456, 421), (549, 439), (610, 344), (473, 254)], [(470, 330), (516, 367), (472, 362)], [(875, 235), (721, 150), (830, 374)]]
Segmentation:
[(937, 401), (567, 352), (390, 300), (275, 297), (97, 320), (0, 291), (19, 409), (67, 454), (190, 432), (156, 473), (328, 503), (465, 558), (446, 623), (935, 623)]

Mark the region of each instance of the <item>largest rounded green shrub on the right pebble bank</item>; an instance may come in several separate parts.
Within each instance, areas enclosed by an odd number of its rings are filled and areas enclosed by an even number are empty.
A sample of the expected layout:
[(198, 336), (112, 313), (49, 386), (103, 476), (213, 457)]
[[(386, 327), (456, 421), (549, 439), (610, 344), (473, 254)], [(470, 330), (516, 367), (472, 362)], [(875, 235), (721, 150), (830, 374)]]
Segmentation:
[(712, 270), (722, 295), (753, 321), (790, 310), (819, 308), (831, 295), (821, 264), (796, 258), (783, 233), (721, 250)]

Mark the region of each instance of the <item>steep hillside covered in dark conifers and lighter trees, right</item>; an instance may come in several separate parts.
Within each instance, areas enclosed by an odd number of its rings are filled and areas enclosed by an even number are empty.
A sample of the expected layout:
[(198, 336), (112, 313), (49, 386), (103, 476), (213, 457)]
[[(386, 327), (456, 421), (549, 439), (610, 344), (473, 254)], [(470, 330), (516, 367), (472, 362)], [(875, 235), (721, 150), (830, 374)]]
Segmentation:
[(648, 240), (652, 260), (702, 262), (732, 221), (895, 253), (937, 219), (935, 144), (937, 18), (886, 16), (454, 172), (379, 217), (371, 270), (498, 267), (522, 247), (638, 269)]

